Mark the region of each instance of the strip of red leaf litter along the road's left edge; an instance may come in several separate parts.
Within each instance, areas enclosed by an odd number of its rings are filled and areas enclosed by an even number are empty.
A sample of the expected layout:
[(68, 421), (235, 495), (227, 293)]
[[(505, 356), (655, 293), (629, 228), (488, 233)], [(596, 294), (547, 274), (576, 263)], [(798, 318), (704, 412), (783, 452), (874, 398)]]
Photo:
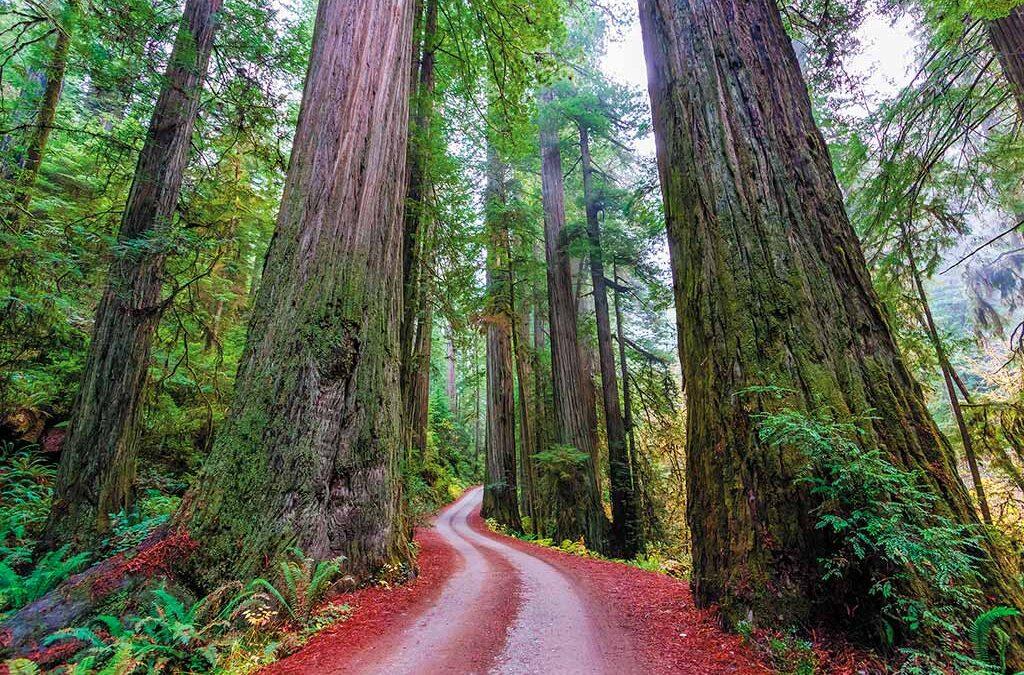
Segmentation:
[(418, 529), (416, 542), (420, 546), (416, 579), (393, 588), (372, 586), (337, 596), (332, 602), (349, 605), (354, 610), (352, 616), (321, 631), (302, 650), (260, 673), (290, 675), (337, 669), (346, 659), (368, 648), (381, 636), (397, 632), (426, 610), (463, 562), (455, 549), (432, 530)]

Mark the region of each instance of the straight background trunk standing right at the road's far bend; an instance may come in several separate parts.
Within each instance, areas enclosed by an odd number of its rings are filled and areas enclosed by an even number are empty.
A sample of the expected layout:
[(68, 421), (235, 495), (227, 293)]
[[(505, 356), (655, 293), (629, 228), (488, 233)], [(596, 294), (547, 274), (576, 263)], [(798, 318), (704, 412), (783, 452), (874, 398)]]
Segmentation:
[(512, 307), (509, 276), (508, 166), (487, 149), (484, 197), (487, 228), (487, 454), (480, 513), (516, 532), (519, 494), (515, 462), (515, 394), (512, 379)]

